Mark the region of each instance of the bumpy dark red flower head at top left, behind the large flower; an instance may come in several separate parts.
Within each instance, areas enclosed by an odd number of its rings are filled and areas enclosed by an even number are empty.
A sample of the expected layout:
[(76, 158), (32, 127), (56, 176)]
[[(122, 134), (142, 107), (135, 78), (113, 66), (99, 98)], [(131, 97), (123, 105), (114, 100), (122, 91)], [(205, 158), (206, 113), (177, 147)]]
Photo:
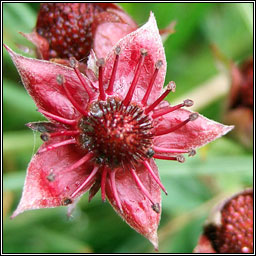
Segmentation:
[[(113, 3), (43, 3), (30, 34), (41, 59), (85, 59), (93, 48), (105, 57), (122, 37), (136, 30), (136, 23)], [(113, 33), (114, 31), (114, 33)]]

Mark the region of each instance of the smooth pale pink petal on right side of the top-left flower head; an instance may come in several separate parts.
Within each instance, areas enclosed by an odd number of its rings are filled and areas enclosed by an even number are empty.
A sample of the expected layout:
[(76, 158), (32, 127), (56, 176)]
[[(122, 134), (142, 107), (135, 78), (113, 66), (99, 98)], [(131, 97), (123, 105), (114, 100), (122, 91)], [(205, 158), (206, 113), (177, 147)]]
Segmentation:
[[(106, 20), (104, 20), (104, 23), (101, 22), (101, 24), (97, 24), (94, 34), (93, 49), (98, 58), (105, 58), (112, 47), (121, 38), (137, 29), (137, 24), (122, 10), (108, 9), (107, 12), (101, 13), (100, 15), (104, 17), (106, 14), (108, 14), (108, 16), (110, 16), (110, 14), (115, 15), (119, 17), (122, 22), (116, 23), (116, 21), (113, 23), (113, 21), (106, 22)], [(97, 16), (97, 19), (98, 18)]]

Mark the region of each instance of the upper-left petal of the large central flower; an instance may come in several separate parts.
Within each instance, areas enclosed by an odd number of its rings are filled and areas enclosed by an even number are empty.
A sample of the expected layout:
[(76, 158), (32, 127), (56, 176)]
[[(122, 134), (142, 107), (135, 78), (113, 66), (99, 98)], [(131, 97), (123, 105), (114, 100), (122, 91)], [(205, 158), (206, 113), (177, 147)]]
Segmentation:
[(74, 99), (86, 109), (88, 94), (73, 69), (49, 61), (23, 57), (7, 46), (6, 49), (19, 71), (25, 88), (40, 109), (67, 119), (75, 119), (80, 115), (67, 98), (63, 86), (58, 84), (58, 75), (65, 78)]

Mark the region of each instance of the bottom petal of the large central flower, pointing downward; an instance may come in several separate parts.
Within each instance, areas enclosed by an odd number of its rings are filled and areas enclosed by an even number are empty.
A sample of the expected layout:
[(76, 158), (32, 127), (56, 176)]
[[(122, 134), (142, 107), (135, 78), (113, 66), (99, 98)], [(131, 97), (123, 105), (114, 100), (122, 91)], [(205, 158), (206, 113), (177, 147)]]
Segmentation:
[[(158, 169), (154, 161), (151, 160), (150, 164), (155, 174), (158, 176)], [(123, 212), (121, 212), (117, 206), (109, 182), (106, 184), (107, 197), (120, 217), (138, 233), (145, 236), (154, 245), (155, 249), (157, 249), (157, 228), (161, 216), (160, 187), (144, 166), (139, 166), (136, 172), (155, 203), (159, 203), (159, 213), (156, 213), (152, 209), (151, 202), (142, 194), (128, 170), (124, 171), (123, 169), (119, 169), (116, 173), (116, 187)]]

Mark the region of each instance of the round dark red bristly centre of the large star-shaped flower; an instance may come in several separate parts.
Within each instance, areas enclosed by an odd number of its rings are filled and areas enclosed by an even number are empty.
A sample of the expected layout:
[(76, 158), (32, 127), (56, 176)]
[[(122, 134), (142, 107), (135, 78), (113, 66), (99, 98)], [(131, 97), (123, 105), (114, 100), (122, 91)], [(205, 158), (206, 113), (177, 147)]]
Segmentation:
[(117, 98), (96, 101), (79, 122), (79, 144), (93, 151), (97, 164), (117, 167), (148, 157), (152, 121), (136, 104), (125, 106)]

